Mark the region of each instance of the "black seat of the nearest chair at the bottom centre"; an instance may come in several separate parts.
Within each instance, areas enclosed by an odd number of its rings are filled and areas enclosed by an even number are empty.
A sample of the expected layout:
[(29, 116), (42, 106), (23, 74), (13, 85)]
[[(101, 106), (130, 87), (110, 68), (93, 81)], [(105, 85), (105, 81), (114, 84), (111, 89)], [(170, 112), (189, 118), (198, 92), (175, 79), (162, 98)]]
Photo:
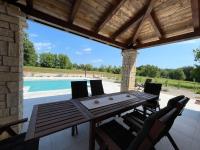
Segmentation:
[[(135, 138), (135, 136), (129, 130), (124, 128), (115, 120), (101, 125), (100, 127), (98, 127), (97, 131), (100, 131), (101, 133), (103, 132), (104, 135), (107, 135), (110, 140), (116, 143), (121, 150), (126, 150), (131, 141), (133, 141), (133, 139)], [(102, 137), (101, 135), (98, 134), (101, 140), (105, 139), (105, 137)], [(104, 142), (107, 142), (107, 140)], [(108, 142), (106, 144), (109, 145)]]

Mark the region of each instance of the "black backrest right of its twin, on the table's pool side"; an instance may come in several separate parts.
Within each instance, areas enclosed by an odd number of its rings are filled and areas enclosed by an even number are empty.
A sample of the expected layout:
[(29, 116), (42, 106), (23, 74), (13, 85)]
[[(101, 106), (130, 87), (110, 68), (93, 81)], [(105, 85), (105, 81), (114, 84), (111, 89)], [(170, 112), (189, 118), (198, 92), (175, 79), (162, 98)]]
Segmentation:
[(102, 80), (90, 80), (92, 96), (104, 94)]

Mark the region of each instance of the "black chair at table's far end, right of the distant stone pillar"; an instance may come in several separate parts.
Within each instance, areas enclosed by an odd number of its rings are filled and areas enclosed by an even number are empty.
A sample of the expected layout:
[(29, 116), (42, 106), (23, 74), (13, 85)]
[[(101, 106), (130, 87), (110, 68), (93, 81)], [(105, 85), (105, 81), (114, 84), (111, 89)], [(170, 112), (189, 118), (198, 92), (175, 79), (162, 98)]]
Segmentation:
[(157, 108), (158, 108), (158, 110), (160, 110), (159, 96), (160, 96), (161, 88), (162, 88), (162, 84), (158, 84), (158, 83), (146, 83), (145, 84), (144, 92), (157, 95), (157, 98), (149, 100), (142, 105), (144, 115), (147, 114), (147, 110), (150, 113), (155, 112), (157, 110)]

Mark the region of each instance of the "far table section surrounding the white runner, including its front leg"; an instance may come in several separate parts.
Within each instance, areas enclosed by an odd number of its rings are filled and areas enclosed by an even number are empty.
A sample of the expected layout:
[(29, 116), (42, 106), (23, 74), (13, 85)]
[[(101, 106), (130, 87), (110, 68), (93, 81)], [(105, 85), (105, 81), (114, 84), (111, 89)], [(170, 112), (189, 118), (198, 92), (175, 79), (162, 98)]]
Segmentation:
[(110, 117), (116, 116), (118, 114), (121, 114), (123, 112), (126, 112), (128, 110), (131, 110), (135, 107), (140, 106), (147, 100), (151, 100), (156, 98), (156, 95), (152, 94), (147, 94), (143, 92), (136, 92), (136, 91), (130, 91), (130, 92), (118, 92), (118, 93), (113, 93), (113, 94), (105, 94), (101, 96), (95, 96), (95, 97), (90, 97), (90, 98), (85, 98), (83, 100), (91, 100), (91, 99), (99, 99), (101, 97), (112, 97), (115, 95), (120, 95), (120, 94), (132, 94), (135, 96), (133, 99), (125, 100), (123, 102), (119, 103), (114, 103), (102, 107), (98, 107), (95, 109), (87, 109), (85, 106), (82, 105), (80, 99), (75, 100), (77, 105), (82, 107), (83, 109), (86, 109), (86, 113), (91, 117), (90, 120), (90, 137), (89, 137), (89, 150), (94, 150), (95, 149), (95, 128), (96, 124), (102, 120), (108, 119)]

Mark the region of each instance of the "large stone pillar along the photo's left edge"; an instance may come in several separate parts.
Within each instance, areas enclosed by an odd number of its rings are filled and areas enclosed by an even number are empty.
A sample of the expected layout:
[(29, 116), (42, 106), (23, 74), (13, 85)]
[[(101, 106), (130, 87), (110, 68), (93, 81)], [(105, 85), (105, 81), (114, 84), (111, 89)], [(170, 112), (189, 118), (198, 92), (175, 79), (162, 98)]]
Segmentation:
[[(23, 117), (22, 30), (25, 19), (21, 15), (19, 8), (0, 0), (0, 124)], [(16, 131), (18, 129), (16, 127)]]

